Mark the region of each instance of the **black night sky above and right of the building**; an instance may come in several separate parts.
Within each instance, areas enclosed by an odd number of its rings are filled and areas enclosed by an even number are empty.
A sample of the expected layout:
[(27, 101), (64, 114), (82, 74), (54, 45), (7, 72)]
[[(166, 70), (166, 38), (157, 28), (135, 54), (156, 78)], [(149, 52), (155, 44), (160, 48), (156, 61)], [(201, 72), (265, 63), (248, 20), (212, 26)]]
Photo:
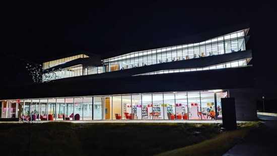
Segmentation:
[(2, 1), (0, 7), (1, 53), (31, 62), (82, 50), (103, 54), (249, 23), (257, 99), (277, 97), (272, 3)]

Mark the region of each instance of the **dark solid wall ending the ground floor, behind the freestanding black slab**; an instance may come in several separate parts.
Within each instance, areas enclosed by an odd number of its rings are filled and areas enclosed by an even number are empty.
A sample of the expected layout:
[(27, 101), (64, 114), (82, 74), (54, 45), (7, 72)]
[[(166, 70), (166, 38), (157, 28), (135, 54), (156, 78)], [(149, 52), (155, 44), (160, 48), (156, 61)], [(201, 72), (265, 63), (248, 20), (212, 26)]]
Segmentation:
[(235, 97), (237, 120), (257, 120), (257, 110), (253, 88), (230, 89), (230, 97)]

